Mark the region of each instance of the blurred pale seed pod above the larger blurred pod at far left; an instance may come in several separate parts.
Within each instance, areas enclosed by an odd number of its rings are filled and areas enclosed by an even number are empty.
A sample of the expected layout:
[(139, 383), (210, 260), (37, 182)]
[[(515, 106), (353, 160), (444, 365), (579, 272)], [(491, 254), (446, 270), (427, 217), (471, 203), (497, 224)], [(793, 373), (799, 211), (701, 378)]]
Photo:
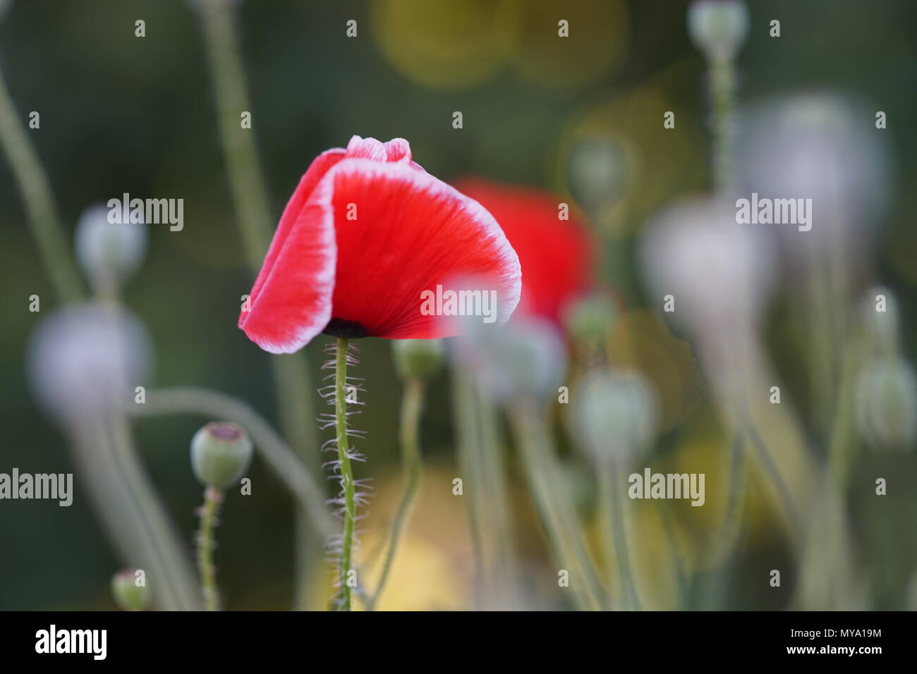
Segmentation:
[(96, 291), (112, 291), (137, 271), (147, 249), (147, 227), (111, 223), (105, 206), (83, 211), (76, 225), (76, 256)]

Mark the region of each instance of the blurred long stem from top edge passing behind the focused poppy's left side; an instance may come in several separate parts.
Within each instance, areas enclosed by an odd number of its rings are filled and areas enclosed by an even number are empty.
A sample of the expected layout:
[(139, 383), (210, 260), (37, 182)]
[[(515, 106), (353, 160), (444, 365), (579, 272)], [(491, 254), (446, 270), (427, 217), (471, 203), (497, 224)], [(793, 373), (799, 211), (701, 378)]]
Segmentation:
[[(233, 203), (238, 214), (249, 268), (257, 273), (271, 239), (271, 215), (261, 176), (254, 131), (241, 127), (241, 114), (251, 112), (241, 50), (236, 32), (235, 3), (226, 0), (197, 0), (204, 26), (207, 58), (214, 78), (220, 138), (226, 154), (226, 170)], [(284, 436), (306, 466), (318, 466), (318, 443), (311, 420), (315, 418), (312, 386), (302, 356), (272, 356), (271, 368), (277, 387)], [(312, 571), (321, 565), (323, 542), (307, 523), (307, 515), (296, 514), (296, 607), (311, 606), (309, 593)]]

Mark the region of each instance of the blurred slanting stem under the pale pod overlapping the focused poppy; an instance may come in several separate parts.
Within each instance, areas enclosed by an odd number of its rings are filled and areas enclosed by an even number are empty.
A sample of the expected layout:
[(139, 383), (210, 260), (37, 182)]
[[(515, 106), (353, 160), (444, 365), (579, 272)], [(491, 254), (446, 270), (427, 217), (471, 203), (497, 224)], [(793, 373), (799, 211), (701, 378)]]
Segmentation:
[(532, 405), (517, 404), (510, 417), (529, 485), (558, 563), (569, 570), (576, 602), (580, 608), (601, 611), (607, 608), (606, 595), (573, 504), (563, 492), (565, 482), (551, 448), (549, 430)]

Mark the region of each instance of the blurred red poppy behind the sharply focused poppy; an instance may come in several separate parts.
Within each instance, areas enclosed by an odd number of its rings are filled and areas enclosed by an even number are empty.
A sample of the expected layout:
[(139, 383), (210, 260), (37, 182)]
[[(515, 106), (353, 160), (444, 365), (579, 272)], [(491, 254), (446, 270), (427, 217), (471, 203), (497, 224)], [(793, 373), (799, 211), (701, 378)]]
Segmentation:
[(573, 215), (558, 218), (558, 201), (546, 193), (509, 187), (479, 178), (457, 184), (503, 227), (525, 269), (519, 311), (561, 325), (570, 301), (591, 287), (592, 242), (588, 229)]

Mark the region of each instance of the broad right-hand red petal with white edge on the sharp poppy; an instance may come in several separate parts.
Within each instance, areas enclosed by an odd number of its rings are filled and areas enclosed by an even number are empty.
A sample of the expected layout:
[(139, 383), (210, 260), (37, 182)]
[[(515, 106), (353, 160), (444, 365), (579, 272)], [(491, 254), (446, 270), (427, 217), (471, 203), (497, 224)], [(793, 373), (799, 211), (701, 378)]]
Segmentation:
[(422, 293), (486, 279), (505, 322), (522, 273), (503, 230), (481, 204), (415, 169), (404, 149), (387, 163), (348, 157), (326, 176), (337, 236), (334, 319), (374, 337), (447, 337), (456, 326), (424, 315)]

